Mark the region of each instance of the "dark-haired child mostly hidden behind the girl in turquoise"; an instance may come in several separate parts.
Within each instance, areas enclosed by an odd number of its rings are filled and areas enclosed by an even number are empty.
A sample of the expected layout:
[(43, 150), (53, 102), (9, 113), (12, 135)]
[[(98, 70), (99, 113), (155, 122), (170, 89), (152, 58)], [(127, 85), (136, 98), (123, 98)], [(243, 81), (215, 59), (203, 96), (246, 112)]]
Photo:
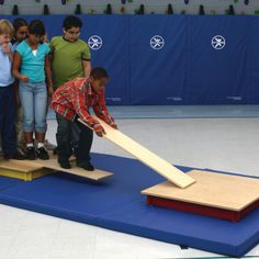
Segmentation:
[[(24, 41), (27, 37), (27, 22), (23, 18), (16, 18), (14, 19), (12, 23), (14, 27), (14, 37), (12, 41), (12, 53), (15, 52), (18, 45)], [(15, 92), (15, 101), (16, 101), (16, 108), (18, 108), (18, 117), (15, 123), (15, 130), (16, 130), (16, 137), (18, 137), (18, 150), (23, 153), (24, 149), (24, 133), (22, 130), (22, 108), (21, 108), (21, 101), (19, 98), (19, 81), (15, 80), (14, 82), (14, 92)]]

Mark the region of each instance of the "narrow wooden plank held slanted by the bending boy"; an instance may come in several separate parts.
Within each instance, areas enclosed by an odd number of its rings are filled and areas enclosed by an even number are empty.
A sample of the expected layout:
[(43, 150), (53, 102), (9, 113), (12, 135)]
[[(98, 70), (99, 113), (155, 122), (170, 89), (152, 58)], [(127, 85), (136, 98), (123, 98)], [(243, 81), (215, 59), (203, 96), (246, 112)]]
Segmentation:
[[(178, 168), (173, 167), (170, 162), (164, 160), (153, 151), (148, 150), (137, 142), (133, 140), (128, 136), (124, 135), (117, 130), (112, 128), (110, 125), (104, 123), (99, 117), (94, 116), (95, 120), (100, 122), (105, 131), (104, 137), (109, 140), (113, 142), (114, 144), (122, 147), (124, 150), (132, 154), (134, 157), (139, 159), (146, 166), (154, 169), (156, 172), (174, 183), (180, 188), (189, 187), (190, 184), (194, 183), (195, 180), (192, 179), (190, 176), (185, 174)], [(79, 121), (85, 124), (80, 119)], [(85, 124), (88, 126), (87, 124)]]

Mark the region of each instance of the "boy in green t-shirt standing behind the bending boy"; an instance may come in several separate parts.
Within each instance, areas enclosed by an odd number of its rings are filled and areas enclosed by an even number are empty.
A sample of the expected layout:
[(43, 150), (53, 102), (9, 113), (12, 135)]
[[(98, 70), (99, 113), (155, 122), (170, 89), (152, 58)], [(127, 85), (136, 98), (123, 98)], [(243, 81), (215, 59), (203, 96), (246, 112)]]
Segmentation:
[(63, 36), (50, 41), (54, 89), (77, 77), (88, 78), (91, 71), (90, 50), (79, 38), (82, 22), (69, 15), (63, 22)]

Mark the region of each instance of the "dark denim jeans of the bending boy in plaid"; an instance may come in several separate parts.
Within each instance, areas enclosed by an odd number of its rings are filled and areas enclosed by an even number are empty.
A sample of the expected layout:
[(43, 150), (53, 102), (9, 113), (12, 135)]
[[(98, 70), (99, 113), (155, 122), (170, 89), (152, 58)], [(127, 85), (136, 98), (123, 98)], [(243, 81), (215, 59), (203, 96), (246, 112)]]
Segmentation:
[(92, 146), (93, 132), (75, 120), (70, 122), (56, 113), (57, 117), (57, 156), (59, 161), (67, 160), (72, 148), (77, 162), (90, 161), (90, 149)]

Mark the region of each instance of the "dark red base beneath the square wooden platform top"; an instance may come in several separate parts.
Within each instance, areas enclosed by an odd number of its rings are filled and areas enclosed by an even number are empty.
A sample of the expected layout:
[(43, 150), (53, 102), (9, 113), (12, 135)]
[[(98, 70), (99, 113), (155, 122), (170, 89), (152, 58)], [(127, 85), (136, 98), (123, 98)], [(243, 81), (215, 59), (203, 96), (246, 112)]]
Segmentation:
[(151, 195), (147, 195), (147, 205), (162, 206), (162, 207), (173, 209), (173, 210), (183, 211), (183, 212), (202, 214), (205, 216), (224, 218), (232, 222), (239, 222), (246, 214), (259, 207), (259, 200), (251, 203), (250, 205), (248, 205), (241, 211), (229, 211), (229, 210), (224, 210), (224, 209), (199, 205), (194, 203), (174, 201), (174, 200), (151, 196)]

